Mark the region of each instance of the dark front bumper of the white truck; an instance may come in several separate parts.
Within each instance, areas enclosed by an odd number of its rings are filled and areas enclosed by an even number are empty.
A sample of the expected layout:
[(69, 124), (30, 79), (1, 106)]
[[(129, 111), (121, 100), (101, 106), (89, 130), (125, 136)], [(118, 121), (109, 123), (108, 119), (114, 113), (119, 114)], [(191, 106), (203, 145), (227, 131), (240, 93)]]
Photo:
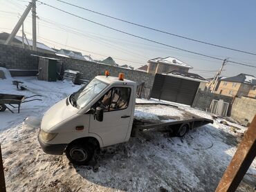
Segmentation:
[(67, 144), (46, 144), (42, 141), (42, 139), (37, 135), (38, 142), (43, 149), (44, 153), (51, 155), (62, 155)]

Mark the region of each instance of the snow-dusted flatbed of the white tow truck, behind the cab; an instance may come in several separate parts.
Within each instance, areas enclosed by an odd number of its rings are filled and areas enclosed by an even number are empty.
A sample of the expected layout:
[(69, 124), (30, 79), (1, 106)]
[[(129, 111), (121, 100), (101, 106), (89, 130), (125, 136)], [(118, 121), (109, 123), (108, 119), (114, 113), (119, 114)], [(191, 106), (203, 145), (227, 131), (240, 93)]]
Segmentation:
[[(156, 107), (158, 109), (162, 108), (163, 111), (166, 111), (168, 108), (172, 108), (171, 110), (174, 111), (174, 114), (176, 114), (175, 112), (182, 113), (182, 117), (172, 114), (155, 114), (154, 118), (149, 119), (147, 118), (148, 115), (143, 116), (143, 113), (147, 113), (147, 109), (152, 107)], [(137, 111), (140, 111), (142, 115), (136, 115)], [(156, 111), (156, 113), (157, 112), (158, 111)], [(191, 130), (192, 128), (197, 128), (209, 123), (213, 123), (212, 119), (206, 119), (198, 115), (194, 115), (171, 104), (138, 103), (135, 108), (134, 124), (131, 135), (136, 136), (138, 131), (147, 131), (152, 128), (165, 128), (165, 130), (172, 133), (178, 133), (179, 129), (183, 126), (187, 126), (187, 128)]]

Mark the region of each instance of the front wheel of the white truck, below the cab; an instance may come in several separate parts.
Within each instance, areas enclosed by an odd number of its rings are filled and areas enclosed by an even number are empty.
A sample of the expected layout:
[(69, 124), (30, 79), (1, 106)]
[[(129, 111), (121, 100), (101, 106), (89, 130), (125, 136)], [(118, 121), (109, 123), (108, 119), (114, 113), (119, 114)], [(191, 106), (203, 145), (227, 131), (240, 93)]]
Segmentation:
[(88, 143), (75, 142), (66, 148), (66, 157), (73, 164), (87, 165), (93, 157), (93, 146)]

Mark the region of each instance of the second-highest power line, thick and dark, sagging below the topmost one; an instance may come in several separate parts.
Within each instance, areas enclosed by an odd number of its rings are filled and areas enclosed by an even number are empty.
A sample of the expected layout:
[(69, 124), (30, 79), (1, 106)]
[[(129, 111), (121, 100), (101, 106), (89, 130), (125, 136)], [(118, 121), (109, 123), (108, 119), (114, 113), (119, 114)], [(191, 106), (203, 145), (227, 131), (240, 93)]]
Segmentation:
[[(37, 1), (38, 1), (38, 0), (37, 0)], [(111, 30), (115, 30), (115, 31), (117, 31), (117, 32), (121, 32), (121, 33), (123, 33), (123, 34), (130, 35), (130, 36), (136, 37), (136, 38), (138, 38), (138, 39), (143, 39), (143, 40), (145, 40), (145, 41), (150, 41), (150, 42), (153, 42), (153, 43), (155, 43), (155, 44), (160, 44), (160, 45), (162, 45), (162, 46), (167, 46), (167, 47), (170, 47), (170, 48), (175, 48), (175, 49), (177, 49), (177, 50), (182, 50), (182, 51), (185, 51), (185, 52), (190, 52), (190, 53), (193, 53), (193, 54), (195, 54), (195, 55), (201, 55), (201, 56), (203, 56), (203, 57), (208, 57), (208, 58), (211, 58), (211, 59), (216, 59), (216, 60), (219, 60), (219, 61), (223, 61), (223, 59), (218, 58), (218, 57), (212, 57), (212, 56), (210, 56), (210, 55), (205, 55), (205, 54), (202, 54), (202, 53), (199, 53), (199, 52), (194, 52), (194, 51), (191, 51), (191, 50), (185, 50), (185, 49), (183, 49), (183, 48), (178, 48), (178, 47), (175, 47), (175, 46), (170, 46), (170, 45), (167, 45), (167, 44), (163, 44), (163, 43), (161, 43), (161, 42), (158, 42), (158, 41), (154, 41), (154, 40), (151, 40), (151, 39), (147, 39), (147, 38), (145, 38), (145, 37), (140, 37), (140, 36), (138, 36), (138, 35), (131, 34), (131, 33), (129, 33), (129, 32), (125, 32), (125, 31), (123, 31), (123, 30), (118, 30), (118, 29), (116, 29), (116, 28), (112, 28), (112, 27), (106, 26), (106, 25), (104, 25), (104, 24), (102, 24), (102, 23), (98, 23), (98, 22), (92, 21), (92, 20), (90, 20), (90, 19), (86, 19), (86, 18), (81, 17), (81, 16), (79, 16), (79, 15), (75, 15), (75, 14), (73, 14), (73, 13), (71, 13), (71, 12), (66, 11), (66, 10), (62, 10), (62, 9), (60, 9), (60, 8), (56, 8), (56, 7), (51, 6), (51, 5), (47, 4), (47, 3), (44, 3), (44, 2), (42, 2), (42, 1), (38, 1), (38, 2), (39, 2), (39, 3), (42, 3), (42, 4), (45, 5), (45, 6), (54, 8), (55, 10), (60, 10), (61, 12), (65, 12), (65, 13), (68, 14), (68, 15), (72, 15), (72, 16), (74, 16), (74, 17), (77, 17), (77, 18), (83, 19), (83, 20), (85, 20), (85, 21), (89, 21), (89, 22), (91, 22), (91, 23), (94, 23), (94, 24), (96, 24), (96, 25), (102, 26), (102, 27), (104, 27), (104, 28), (109, 28), (109, 29), (111, 29)], [(243, 65), (243, 66), (250, 66), (250, 67), (256, 68), (256, 66), (251, 66), (251, 65), (248, 65), (248, 64), (242, 64), (242, 63), (235, 62), (235, 61), (229, 61), (229, 62), (230, 62), (230, 63), (233, 63), (233, 64), (239, 64), (239, 65)]]

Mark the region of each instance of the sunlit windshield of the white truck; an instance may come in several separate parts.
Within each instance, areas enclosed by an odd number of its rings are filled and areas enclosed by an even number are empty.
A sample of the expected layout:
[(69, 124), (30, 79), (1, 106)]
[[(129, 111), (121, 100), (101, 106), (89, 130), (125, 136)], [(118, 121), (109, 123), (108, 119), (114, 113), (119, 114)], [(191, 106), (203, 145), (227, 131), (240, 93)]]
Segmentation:
[(93, 79), (89, 84), (77, 90), (70, 97), (70, 102), (73, 106), (77, 108), (83, 108), (86, 104), (89, 104), (92, 99), (97, 97), (97, 95), (107, 87), (104, 82)]

